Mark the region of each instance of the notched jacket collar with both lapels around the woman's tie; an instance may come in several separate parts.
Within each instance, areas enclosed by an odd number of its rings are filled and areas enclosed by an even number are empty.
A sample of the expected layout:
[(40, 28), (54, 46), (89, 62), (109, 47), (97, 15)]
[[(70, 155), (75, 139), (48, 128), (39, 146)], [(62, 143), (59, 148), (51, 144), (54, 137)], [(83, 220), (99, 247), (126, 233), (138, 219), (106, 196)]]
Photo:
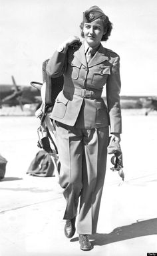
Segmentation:
[[(86, 56), (84, 53), (84, 42), (82, 42), (82, 45), (78, 49), (78, 51), (75, 51), (74, 55), (79, 59), (79, 61), (87, 67), (86, 63)], [(88, 63), (88, 67), (96, 66), (98, 63), (101, 63), (105, 60), (108, 60), (108, 56), (106, 56), (106, 49), (100, 44), (100, 47), (96, 51), (95, 55), (90, 59)]]

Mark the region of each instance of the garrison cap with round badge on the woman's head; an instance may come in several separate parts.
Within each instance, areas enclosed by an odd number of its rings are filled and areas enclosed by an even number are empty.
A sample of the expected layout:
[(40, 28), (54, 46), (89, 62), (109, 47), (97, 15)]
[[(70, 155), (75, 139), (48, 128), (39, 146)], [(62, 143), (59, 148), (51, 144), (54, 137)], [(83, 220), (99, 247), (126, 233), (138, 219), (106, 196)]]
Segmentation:
[(84, 22), (92, 22), (95, 19), (100, 17), (106, 17), (104, 12), (96, 5), (90, 7), (88, 10), (83, 13), (83, 21)]

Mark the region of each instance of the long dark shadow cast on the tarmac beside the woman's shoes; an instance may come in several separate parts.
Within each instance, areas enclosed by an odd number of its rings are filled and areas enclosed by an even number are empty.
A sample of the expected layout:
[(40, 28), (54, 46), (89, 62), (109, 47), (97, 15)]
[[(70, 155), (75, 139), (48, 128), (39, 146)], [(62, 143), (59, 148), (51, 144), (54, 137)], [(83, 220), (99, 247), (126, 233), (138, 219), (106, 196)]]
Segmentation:
[[(138, 220), (131, 225), (117, 227), (109, 234), (90, 235), (93, 245), (107, 245), (108, 243), (115, 243), (126, 239), (135, 237), (143, 237), (146, 235), (157, 234), (157, 218), (148, 220)], [(78, 237), (71, 239), (71, 242), (78, 241)]]

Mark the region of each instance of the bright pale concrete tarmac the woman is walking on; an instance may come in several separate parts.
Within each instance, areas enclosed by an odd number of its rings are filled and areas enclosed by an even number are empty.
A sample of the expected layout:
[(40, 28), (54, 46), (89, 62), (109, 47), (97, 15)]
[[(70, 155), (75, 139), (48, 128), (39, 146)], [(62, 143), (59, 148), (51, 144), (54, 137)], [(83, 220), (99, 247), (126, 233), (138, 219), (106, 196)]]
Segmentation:
[(26, 174), (37, 147), (34, 116), (0, 116), (0, 154), (7, 160), (0, 182), (0, 256), (146, 256), (157, 253), (157, 113), (122, 110), (124, 182), (110, 156), (94, 249), (81, 251), (78, 235), (63, 229), (65, 199), (55, 177)]

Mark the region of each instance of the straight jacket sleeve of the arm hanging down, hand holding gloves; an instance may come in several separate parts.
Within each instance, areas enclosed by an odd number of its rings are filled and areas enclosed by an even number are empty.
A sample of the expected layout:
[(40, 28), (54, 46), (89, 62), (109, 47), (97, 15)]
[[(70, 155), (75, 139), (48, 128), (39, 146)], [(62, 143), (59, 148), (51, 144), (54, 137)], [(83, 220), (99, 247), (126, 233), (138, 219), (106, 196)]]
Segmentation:
[(120, 57), (114, 59), (111, 74), (106, 83), (106, 100), (110, 118), (110, 133), (122, 132), (122, 117), (120, 109)]

